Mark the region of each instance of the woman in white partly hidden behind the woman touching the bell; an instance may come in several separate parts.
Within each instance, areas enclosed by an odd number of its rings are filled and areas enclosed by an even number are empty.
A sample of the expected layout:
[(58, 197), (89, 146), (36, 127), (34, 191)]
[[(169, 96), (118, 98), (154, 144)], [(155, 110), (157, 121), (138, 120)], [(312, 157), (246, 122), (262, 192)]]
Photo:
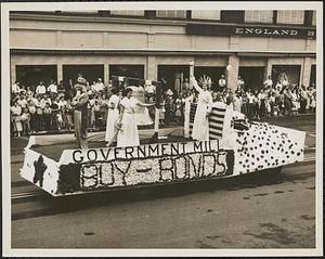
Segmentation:
[(116, 128), (116, 120), (118, 119), (118, 103), (119, 96), (118, 90), (116, 88), (112, 89), (113, 95), (108, 100), (108, 113), (107, 113), (107, 120), (106, 120), (106, 133), (105, 133), (105, 141), (106, 142), (114, 142), (116, 141), (117, 135), (117, 128)]

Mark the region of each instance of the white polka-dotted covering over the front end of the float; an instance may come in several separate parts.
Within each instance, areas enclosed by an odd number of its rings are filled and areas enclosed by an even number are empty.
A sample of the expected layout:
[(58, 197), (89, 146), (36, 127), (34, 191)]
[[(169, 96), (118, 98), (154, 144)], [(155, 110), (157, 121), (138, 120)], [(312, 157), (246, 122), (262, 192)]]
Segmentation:
[(290, 138), (280, 127), (253, 122), (248, 130), (237, 131), (236, 134), (235, 174), (275, 168), (303, 159), (303, 143), (297, 141), (297, 138)]

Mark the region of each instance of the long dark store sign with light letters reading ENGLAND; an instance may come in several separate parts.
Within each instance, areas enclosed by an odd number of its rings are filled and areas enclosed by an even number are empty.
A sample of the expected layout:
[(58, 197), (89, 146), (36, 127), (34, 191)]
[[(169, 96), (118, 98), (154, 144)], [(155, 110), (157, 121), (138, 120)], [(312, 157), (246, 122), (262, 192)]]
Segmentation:
[(294, 27), (266, 27), (266, 26), (235, 26), (235, 25), (202, 25), (188, 24), (188, 35), (216, 35), (216, 36), (260, 36), (260, 37), (286, 37), (286, 38), (315, 38), (316, 29)]

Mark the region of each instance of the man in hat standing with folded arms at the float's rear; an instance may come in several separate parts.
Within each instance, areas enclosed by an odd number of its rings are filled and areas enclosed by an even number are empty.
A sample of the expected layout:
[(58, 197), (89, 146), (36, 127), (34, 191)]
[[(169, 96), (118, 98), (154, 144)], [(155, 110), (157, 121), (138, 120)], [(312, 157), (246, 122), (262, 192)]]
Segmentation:
[(75, 137), (80, 148), (88, 148), (87, 143), (87, 106), (88, 93), (86, 89), (86, 79), (81, 74), (78, 75), (77, 83), (75, 85), (77, 91), (76, 96), (73, 99), (72, 106), (74, 107), (74, 124)]

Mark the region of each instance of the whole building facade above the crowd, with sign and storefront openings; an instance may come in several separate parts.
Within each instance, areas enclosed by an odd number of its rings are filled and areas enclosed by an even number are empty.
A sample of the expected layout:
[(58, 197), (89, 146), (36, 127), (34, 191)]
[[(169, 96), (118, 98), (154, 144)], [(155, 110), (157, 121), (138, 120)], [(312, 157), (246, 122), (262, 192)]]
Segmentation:
[(167, 79), (171, 88), (195, 76), (230, 88), (240, 76), (258, 89), (276, 83), (315, 83), (316, 11), (89, 11), (11, 12), (11, 80), (67, 82), (78, 73), (92, 82), (112, 76)]

